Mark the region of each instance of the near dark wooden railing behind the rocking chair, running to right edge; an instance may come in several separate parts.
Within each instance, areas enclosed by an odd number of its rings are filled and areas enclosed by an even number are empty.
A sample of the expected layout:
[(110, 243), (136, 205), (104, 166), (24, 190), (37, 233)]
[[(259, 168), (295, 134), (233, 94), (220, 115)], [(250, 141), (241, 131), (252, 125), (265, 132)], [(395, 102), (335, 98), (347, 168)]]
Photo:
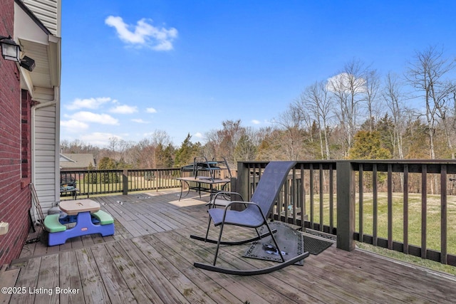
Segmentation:
[[(240, 162), (235, 189), (251, 197), (266, 162)], [(272, 217), (356, 241), (456, 266), (452, 160), (298, 162)]]

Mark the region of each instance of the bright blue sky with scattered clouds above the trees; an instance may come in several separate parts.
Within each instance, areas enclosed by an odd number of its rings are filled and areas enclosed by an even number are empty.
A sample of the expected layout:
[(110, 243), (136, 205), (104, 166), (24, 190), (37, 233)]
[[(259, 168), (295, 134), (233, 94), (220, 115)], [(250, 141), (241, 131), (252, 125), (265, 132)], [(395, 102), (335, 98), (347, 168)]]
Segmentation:
[(455, 13), (450, 0), (62, 1), (61, 140), (265, 127), (353, 59), (385, 75), (429, 46), (454, 58)]

